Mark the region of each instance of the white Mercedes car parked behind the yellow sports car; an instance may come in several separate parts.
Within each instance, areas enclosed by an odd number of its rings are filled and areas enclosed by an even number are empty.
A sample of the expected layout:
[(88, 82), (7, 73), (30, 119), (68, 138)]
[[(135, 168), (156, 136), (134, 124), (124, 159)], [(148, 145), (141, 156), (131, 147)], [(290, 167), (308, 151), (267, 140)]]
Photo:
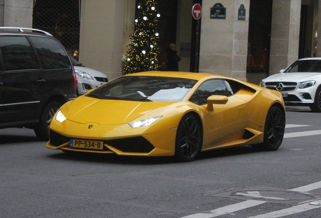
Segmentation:
[(321, 58), (299, 59), (263, 79), (260, 86), (280, 91), (285, 105), (309, 106), (321, 113)]

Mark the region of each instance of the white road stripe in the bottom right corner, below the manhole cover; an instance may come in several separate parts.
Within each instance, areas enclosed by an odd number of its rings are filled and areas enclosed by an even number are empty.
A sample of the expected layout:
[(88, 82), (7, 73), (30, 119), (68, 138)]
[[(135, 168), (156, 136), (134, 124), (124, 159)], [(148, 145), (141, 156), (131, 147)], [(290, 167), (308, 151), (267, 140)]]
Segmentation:
[[(319, 204), (319, 203), (321, 203), (321, 200), (314, 201), (314, 203)], [(319, 207), (321, 207), (321, 205), (313, 205), (310, 203), (305, 203), (305, 204), (293, 206), (293, 207), (283, 209), (283, 210), (273, 211), (270, 213), (264, 213), (264, 214), (257, 215), (257, 216), (250, 216), (248, 218), (276, 218), (276, 217), (291, 215), (294, 213), (304, 212), (304, 211), (310, 210), (310, 209), (316, 209)]]

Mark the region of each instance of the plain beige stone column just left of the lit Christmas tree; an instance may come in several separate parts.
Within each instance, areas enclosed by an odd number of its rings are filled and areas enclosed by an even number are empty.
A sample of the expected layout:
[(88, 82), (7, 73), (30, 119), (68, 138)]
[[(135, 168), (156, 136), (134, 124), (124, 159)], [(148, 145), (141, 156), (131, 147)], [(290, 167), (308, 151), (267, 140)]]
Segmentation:
[(79, 61), (86, 67), (121, 76), (124, 0), (82, 0)]

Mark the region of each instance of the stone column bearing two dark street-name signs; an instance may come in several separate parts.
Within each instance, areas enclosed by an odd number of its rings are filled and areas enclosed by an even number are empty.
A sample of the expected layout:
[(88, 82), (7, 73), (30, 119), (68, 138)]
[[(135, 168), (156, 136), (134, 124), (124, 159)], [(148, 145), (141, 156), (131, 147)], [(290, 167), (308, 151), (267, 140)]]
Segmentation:
[[(226, 19), (210, 19), (210, 8), (221, 3)], [(244, 6), (246, 17), (238, 19)], [(249, 0), (203, 0), (199, 72), (246, 80)]]

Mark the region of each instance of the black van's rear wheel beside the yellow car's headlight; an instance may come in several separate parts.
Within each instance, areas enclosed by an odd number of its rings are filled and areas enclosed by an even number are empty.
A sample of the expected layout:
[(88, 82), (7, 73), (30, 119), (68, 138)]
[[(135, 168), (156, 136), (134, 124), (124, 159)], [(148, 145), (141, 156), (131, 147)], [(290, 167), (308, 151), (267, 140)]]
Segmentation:
[(34, 132), (38, 139), (42, 141), (49, 140), (49, 126), (53, 116), (55, 116), (56, 112), (61, 107), (61, 103), (57, 101), (51, 101), (43, 108), (38, 125), (34, 128)]

